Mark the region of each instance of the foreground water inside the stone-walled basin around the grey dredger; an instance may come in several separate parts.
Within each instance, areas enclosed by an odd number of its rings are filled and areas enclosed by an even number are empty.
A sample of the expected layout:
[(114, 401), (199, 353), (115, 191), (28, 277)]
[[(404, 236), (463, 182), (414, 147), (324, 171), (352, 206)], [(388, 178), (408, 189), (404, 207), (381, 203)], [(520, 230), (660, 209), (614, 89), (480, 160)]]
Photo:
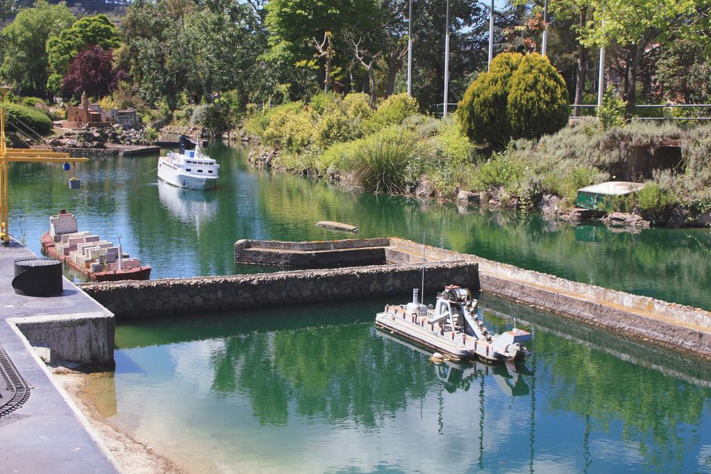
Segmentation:
[(384, 303), (130, 321), (90, 391), (201, 472), (711, 472), (708, 365), (486, 296), (528, 367), (433, 365), (375, 330)]

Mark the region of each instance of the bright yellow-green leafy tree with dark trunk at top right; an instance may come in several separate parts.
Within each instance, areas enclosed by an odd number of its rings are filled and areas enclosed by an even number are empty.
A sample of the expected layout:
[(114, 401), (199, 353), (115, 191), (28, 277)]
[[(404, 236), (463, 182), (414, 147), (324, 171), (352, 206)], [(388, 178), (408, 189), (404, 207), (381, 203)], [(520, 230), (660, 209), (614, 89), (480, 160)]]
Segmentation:
[(707, 0), (599, 0), (582, 32), (586, 46), (616, 45), (625, 65), (626, 113), (637, 99), (637, 74), (648, 48), (669, 38), (700, 40), (708, 31), (711, 4)]

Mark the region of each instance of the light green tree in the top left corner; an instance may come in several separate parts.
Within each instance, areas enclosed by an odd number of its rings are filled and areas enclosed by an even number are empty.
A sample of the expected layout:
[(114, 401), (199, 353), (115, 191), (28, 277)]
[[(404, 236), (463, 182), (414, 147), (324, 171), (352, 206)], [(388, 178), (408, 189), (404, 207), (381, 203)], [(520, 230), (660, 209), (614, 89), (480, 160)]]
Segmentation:
[(74, 20), (65, 4), (50, 5), (38, 0), (33, 8), (21, 10), (3, 29), (0, 75), (18, 94), (48, 97), (48, 38), (58, 35)]

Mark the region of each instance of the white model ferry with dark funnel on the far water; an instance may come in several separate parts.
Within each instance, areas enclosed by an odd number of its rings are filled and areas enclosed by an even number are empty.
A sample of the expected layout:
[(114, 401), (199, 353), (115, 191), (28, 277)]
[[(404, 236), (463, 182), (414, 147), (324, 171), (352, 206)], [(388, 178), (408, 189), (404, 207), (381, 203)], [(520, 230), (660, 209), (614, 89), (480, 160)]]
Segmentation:
[(166, 156), (158, 158), (158, 178), (178, 188), (214, 188), (220, 165), (201, 152), (199, 143), (195, 144), (194, 150), (188, 149), (192, 144), (188, 137), (181, 135), (180, 151), (169, 151)]

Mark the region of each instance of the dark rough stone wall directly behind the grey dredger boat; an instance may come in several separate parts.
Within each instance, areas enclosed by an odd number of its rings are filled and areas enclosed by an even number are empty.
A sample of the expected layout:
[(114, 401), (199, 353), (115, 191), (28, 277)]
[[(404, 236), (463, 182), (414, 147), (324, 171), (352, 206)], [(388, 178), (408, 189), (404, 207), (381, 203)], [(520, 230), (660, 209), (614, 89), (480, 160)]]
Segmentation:
[[(430, 293), (448, 284), (479, 288), (475, 263), (439, 262), (427, 264), (425, 271), (425, 289)], [(117, 281), (81, 287), (121, 319), (377, 297), (394, 297), (391, 302), (398, 303), (421, 285), (422, 267), (412, 264)]]

